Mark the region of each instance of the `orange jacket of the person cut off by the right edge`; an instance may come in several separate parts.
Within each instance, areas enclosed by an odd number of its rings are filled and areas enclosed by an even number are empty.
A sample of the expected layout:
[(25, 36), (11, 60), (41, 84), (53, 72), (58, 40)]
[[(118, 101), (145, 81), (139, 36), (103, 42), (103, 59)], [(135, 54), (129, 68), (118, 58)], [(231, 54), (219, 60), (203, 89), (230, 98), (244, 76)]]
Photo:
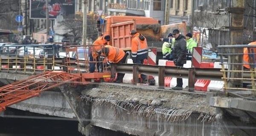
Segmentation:
[[(255, 42), (250, 42), (248, 45), (256, 45), (256, 41)], [(244, 48), (244, 67), (250, 69), (250, 61), (249, 61), (249, 56), (253, 57), (252, 55), (254, 55), (254, 58), (251, 58), (251, 60), (253, 60), (251, 63), (255, 63), (255, 59), (256, 59), (256, 48), (249, 48), (250, 49), (250, 54), (248, 53), (248, 48)]]

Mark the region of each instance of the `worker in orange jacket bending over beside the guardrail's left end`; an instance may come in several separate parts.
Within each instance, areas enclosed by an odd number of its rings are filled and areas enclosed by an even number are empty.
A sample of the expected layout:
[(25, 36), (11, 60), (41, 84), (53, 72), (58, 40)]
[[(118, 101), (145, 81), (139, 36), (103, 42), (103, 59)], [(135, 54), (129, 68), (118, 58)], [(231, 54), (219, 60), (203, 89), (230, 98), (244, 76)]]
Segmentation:
[[(125, 63), (125, 51), (120, 48), (106, 45), (102, 48), (102, 56), (108, 59), (107, 67), (112, 63)], [(122, 83), (124, 73), (117, 73), (115, 83)]]

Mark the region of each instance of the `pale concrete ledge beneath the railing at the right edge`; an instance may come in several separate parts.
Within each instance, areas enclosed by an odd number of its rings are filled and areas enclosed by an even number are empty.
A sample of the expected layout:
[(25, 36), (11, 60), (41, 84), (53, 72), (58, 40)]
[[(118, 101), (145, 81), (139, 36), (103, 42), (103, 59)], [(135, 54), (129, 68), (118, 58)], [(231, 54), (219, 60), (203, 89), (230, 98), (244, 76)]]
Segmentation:
[(256, 101), (247, 100), (244, 98), (228, 98), (219, 96), (211, 97), (210, 106), (256, 112)]

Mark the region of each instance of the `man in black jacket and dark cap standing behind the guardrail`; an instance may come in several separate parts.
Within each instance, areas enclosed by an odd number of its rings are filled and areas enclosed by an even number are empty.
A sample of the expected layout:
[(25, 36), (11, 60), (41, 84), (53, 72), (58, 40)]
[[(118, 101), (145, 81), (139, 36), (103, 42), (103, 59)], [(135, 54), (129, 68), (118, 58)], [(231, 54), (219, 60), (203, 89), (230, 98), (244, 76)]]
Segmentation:
[[(175, 38), (173, 49), (173, 61), (176, 66), (183, 67), (186, 64), (186, 37), (184, 37), (178, 29), (172, 31)], [(182, 90), (183, 81), (182, 78), (177, 78), (177, 85), (173, 87), (173, 90)]]

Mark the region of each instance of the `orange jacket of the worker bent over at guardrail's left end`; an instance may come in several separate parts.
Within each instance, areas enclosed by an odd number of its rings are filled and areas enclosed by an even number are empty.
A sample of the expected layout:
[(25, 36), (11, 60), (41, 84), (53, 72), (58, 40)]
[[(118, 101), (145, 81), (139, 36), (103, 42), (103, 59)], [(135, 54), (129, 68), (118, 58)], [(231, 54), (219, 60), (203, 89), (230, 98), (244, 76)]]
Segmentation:
[(108, 59), (107, 64), (110, 65), (111, 63), (118, 63), (122, 60), (122, 58), (125, 57), (125, 51), (120, 48), (107, 45), (102, 48), (102, 56), (105, 56)]

